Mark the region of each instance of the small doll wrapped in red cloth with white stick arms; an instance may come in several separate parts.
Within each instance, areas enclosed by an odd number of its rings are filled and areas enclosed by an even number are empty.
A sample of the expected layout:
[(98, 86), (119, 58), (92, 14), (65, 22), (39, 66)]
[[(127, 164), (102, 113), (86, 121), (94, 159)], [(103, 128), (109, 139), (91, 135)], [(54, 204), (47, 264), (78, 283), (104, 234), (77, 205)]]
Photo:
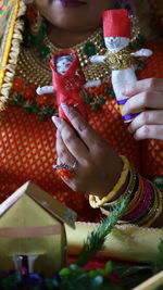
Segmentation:
[(86, 89), (98, 86), (98, 81), (86, 83), (77, 53), (72, 49), (61, 50), (55, 53), (50, 61), (50, 67), (52, 70), (52, 86), (39, 87), (37, 93), (54, 92), (59, 116), (66, 122), (70, 123), (62, 110), (61, 103), (74, 106), (87, 119)]

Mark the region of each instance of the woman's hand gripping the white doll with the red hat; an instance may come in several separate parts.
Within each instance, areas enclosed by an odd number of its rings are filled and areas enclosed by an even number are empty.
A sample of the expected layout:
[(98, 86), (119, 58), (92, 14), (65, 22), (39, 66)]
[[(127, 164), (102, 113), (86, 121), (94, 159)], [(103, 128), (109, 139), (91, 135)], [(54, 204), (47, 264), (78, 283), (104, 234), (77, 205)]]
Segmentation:
[(135, 139), (163, 140), (163, 79), (148, 78), (126, 85), (122, 93), (131, 97), (123, 108), (123, 114), (129, 114), (143, 108), (128, 126)]

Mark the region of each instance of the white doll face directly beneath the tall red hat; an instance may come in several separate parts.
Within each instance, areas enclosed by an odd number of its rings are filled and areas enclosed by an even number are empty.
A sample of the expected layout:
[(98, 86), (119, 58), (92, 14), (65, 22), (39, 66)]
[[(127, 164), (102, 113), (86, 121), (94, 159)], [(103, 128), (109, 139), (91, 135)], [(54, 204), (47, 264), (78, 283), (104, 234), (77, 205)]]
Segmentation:
[(111, 51), (120, 51), (129, 45), (129, 38), (127, 37), (105, 37), (105, 47)]

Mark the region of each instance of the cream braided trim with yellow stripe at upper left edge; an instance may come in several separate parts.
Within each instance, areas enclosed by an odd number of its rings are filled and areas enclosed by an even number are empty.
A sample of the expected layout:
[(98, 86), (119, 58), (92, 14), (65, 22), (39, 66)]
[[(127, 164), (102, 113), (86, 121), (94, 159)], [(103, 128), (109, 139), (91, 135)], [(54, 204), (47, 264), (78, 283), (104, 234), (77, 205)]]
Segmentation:
[(0, 1), (0, 110), (5, 103), (15, 73), (25, 14), (23, 0)]

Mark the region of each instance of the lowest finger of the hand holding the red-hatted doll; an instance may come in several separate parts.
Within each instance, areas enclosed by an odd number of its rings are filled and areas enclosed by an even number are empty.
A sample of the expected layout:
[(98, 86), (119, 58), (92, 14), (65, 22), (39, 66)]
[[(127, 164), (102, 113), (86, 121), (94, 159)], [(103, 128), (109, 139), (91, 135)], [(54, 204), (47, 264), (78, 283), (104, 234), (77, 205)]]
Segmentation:
[(136, 130), (134, 138), (142, 139), (160, 139), (163, 140), (163, 125), (143, 125)]

